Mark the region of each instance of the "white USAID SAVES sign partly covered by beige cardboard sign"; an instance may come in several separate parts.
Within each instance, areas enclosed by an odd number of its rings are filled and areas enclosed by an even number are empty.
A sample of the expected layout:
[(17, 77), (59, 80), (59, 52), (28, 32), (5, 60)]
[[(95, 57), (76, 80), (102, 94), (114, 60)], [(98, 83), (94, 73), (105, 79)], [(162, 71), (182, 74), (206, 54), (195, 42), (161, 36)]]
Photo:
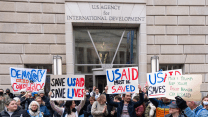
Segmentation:
[(168, 76), (182, 75), (182, 70), (160, 71), (147, 74), (149, 98), (166, 97), (165, 81)]

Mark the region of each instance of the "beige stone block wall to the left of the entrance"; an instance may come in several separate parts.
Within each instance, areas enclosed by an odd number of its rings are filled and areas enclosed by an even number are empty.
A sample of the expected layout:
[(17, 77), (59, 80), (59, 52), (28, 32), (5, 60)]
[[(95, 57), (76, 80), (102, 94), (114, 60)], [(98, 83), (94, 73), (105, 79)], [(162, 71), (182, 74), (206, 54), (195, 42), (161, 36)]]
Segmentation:
[(64, 0), (1, 0), (0, 88), (11, 88), (9, 67), (52, 65), (58, 54), (66, 68), (64, 14)]

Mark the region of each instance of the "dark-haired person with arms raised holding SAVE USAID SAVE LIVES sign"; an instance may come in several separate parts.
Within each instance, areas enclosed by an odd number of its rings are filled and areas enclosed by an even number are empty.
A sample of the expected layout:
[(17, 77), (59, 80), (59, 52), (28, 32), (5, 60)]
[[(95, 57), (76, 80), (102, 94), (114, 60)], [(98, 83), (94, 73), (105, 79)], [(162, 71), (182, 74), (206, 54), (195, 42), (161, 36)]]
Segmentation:
[[(52, 92), (49, 92), (48, 96), (51, 97)], [(80, 110), (85, 104), (86, 93), (84, 92), (84, 100), (76, 107), (74, 101), (66, 101), (64, 108), (61, 108), (54, 104), (54, 101), (50, 100), (51, 107), (62, 117), (78, 117)]]

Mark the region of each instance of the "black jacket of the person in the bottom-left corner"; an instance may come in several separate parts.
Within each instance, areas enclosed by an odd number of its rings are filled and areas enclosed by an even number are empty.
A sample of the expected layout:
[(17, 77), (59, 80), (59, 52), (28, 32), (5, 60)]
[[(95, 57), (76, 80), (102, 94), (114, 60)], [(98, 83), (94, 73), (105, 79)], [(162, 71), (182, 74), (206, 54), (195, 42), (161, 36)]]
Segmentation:
[[(2, 111), (0, 117), (10, 117), (6, 110)], [(20, 107), (17, 108), (16, 111), (12, 114), (11, 117), (30, 117), (26, 110), (21, 109)]]

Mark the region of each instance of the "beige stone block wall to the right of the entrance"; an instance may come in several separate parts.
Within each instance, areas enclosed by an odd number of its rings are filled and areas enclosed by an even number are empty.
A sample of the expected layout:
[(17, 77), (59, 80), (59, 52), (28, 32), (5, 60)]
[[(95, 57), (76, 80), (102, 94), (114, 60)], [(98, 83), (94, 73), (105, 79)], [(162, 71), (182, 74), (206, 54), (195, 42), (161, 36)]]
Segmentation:
[[(207, 95), (207, 0), (147, 0), (147, 63), (183, 64), (184, 73), (202, 74)], [(148, 69), (150, 72), (150, 69)]]

